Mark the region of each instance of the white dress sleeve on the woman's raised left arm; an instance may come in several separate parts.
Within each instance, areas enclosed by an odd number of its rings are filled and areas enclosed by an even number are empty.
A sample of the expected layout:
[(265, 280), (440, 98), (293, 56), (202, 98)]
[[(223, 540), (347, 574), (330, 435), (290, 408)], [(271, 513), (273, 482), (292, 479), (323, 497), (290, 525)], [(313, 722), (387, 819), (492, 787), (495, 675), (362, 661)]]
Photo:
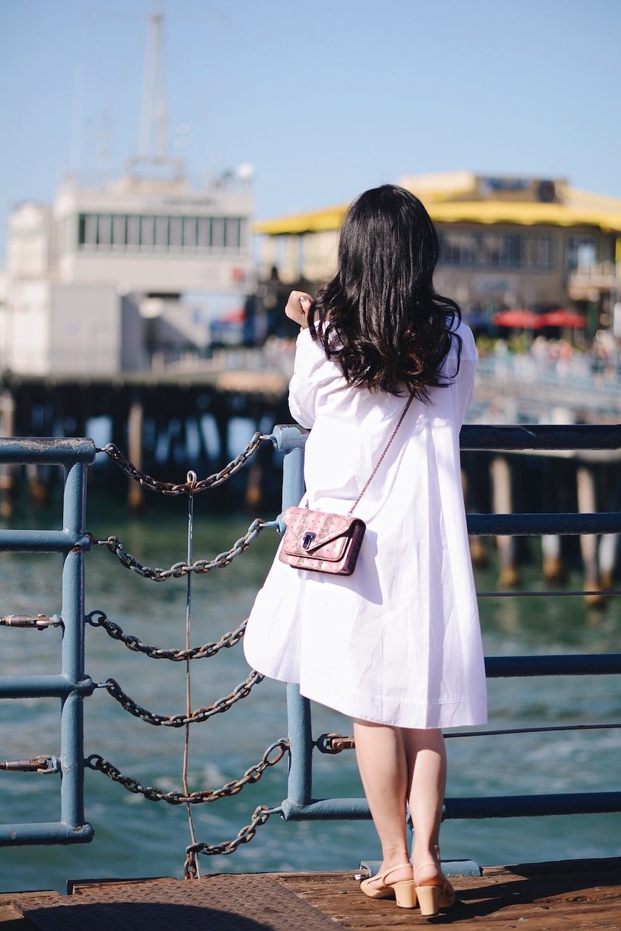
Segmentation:
[(289, 382), (289, 410), (300, 426), (314, 424), (320, 398), (338, 382), (342, 383), (342, 375), (336, 364), (325, 358), (324, 347), (312, 339), (310, 331), (302, 330)]

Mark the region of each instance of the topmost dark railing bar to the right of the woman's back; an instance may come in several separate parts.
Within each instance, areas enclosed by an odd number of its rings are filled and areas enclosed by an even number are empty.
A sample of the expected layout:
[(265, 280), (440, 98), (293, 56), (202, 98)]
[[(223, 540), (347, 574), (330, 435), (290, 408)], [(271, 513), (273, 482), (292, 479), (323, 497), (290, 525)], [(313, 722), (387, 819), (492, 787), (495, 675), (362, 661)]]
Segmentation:
[(617, 450), (621, 424), (601, 425), (479, 425), (461, 428), (463, 451), (486, 450)]

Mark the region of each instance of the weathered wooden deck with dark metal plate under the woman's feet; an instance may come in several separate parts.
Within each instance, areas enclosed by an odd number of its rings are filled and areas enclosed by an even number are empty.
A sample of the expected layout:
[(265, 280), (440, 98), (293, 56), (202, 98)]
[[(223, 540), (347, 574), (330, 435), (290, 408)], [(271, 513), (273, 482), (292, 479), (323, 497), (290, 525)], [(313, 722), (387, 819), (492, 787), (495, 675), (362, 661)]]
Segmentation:
[(352, 872), (218, 874), (76, 882), (73, 895), (0, 896), (2, 931), (386, 931), (469, 924), (481, 931), (620, 931), (621, 857), (486, 867), (453, 880), (458, 901), (437, 918), (363, 897)]

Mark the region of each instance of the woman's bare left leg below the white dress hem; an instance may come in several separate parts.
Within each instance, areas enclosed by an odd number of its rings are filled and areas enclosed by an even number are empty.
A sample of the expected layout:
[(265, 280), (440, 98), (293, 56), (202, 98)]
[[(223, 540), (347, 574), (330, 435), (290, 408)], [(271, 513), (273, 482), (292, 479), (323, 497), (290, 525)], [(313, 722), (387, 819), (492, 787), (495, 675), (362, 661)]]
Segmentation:
[[(382, 872), (410, 858), (405, 836), (409, 773), (403, 728), (356, 720), (353, 733), (364, 794), (382, 847)], [(411, 879), (408, 868), (390, 875), (390, 883)]]

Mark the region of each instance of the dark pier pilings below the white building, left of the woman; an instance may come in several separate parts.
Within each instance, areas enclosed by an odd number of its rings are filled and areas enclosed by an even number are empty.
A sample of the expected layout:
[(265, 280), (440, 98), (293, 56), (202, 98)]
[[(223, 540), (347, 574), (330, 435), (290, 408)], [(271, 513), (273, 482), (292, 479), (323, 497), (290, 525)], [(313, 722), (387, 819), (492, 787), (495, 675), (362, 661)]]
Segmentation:
[[(190, 468), (199, 475), (209, 474), (231, 458), (231, 425), (236, 419), (250, 423), (246, 439), (261, 427), (269, 430), (291, 420), (286, 371), (247, 370), (244, 354), (238, 356), (238, 370), (216, 365), (204, 371), (129, 372), (114, 377), (5, 374), (0, 379), (0, 435), (87, 437), (89, 424), (105, 418), (110, 442), (142, 471), (178, 481), (185, 480)], [(273, 489), (280, 489), (277, 470), (260, 467), (267, 465), (269, 452), (263, 457), (259, 452), (255, 459), (260, 475), (255, 469), (252, 476), (241, 479), (247, 479), (255, 497), (264, 490), (273, 496)], [(107, 490), (127, 488), (119, 470), (110, 467), (103, 472), (96, 467), (91, 484)], [(270, 472), (275, 472), (273, 482)], [(29, 479), (31, 489), (45, 496), (41, 488), (45, 474), (33, 473)], [(14, 484), (10, 470), (0, 476), (0, 489), (6, 496)], [(230, 492), (243, 502), (246, 487), (233, 481), (231, 489), (224, 488), (222, 506), (231, 506)], [(141, 505), (141, 489), (135, 483), (130, 484), (128, 496), (130, 506)]]

